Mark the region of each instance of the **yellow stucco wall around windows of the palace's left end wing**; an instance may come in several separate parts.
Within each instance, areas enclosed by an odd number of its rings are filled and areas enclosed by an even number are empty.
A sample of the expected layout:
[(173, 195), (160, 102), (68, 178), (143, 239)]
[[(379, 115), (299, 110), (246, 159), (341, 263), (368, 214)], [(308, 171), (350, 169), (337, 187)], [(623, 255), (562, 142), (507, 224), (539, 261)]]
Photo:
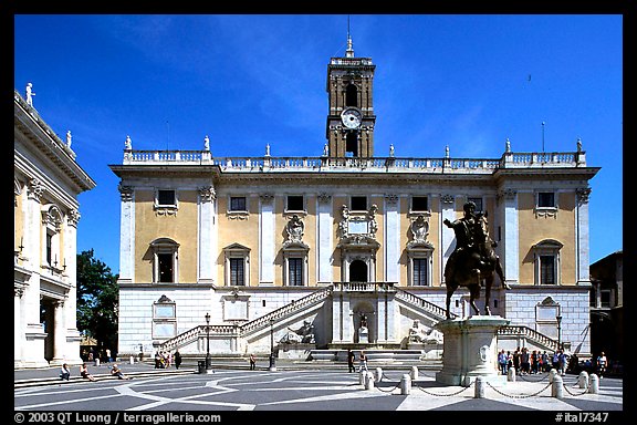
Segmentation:
[(197, 281), (197, 191), (177, 193), (176, 215), (159, 216), (154, 210), (155, 191), (135, 193), (135, 281), (153, 281), (150, 242), (169, 238), (179, 243), (179, 282)]

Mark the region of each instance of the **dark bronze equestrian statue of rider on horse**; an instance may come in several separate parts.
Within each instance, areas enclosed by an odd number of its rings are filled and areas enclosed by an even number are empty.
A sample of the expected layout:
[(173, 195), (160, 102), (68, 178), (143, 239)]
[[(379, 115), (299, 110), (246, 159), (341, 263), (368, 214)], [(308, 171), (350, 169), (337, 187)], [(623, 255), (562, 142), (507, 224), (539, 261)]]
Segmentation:
[(500, 277), (502, 287), (511, 289), (504, 279), (500, 258), (493, 250), (497, 242), (489, 237), (487, 217), (482, 214), (474, 215), (471, 207), (471, 205), (466, 205), (464, 219), (453, 222), (445, 220), (445, 225), (453, 229), (457, 242), (463, 242), (463, 245), (456, 247), (456, 250), (451, 253), (453, 259), (450, 257), (445, 267), (447, 319), (451, 318), (451, 296), (459, 287), (469, 289), (469, 304), (476, 314), (480, 314), (476, 300), (480, 299), (481, 282), (484, 280), (484, 314), (487, 315), (491, 314), (489, 302), (491, 301), (491, 287), (493, 286), (495, 273)]

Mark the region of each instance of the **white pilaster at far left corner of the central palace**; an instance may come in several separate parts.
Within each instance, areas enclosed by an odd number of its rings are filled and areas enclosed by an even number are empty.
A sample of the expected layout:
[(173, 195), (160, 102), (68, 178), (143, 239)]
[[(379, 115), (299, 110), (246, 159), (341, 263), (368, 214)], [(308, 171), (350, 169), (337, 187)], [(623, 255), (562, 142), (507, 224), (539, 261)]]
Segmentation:
[(119, 185), (122, 222), (119, 225), (119, 278), (118, 283), (132, 283), (135, 279), (135, 191), (130, 186)]

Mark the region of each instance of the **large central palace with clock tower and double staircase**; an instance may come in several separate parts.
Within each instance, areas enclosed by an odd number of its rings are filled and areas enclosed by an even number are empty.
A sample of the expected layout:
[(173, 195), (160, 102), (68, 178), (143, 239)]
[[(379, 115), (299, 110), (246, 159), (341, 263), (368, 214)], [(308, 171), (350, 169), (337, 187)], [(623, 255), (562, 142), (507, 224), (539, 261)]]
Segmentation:
[[(126, 138), (109, 166), (121, 179), (121, 355), (282, 355), (307, 326), (316, 353), (413, 348), (415, 325), (430, 334), (445, 320), (455, 235), (443, 220), (467, 201), (488, 212), (511, 287), (497, 279), (491, 294), (492, 314), (510, 320), (499, 344), (589, 352), (588, 180), (599, 168), (581, 143), (524, 153), (503, 142), (495, 158), (379, 156), (375, 66), (351, 40), (330, 60), (318, 157), (269, 146), (217, 156), (207, 137), (200, 151), (136, 151)], [(468, 300), (459, 289), (452, 313), (472, 314)]]

